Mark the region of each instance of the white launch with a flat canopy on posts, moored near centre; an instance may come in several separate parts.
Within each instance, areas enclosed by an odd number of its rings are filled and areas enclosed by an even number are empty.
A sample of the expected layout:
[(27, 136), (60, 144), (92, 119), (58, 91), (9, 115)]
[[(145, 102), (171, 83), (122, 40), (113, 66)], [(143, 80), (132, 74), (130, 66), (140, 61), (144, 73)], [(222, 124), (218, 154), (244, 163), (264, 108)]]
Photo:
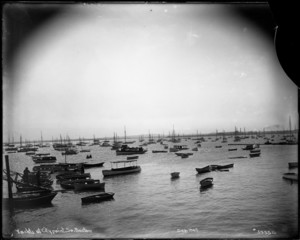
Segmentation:
[[(124, 167), (119, 168), (118, 164), (124, 164)], [(136, 165), (137, 160), (127, 160), (127, 161), (115, 161), (111, 162), (111, 164), (116, 164), (116, 168), (111, 168), (110, 170), (102, 170), (102, 174), (104, 177), (107, 176), (115, 176), (115, 175), (123, 175), (130, 173), (137, 173), (141, 171), (141, 167)], [(126, 164), (131, 164), (131, 166), (126, 167)]]

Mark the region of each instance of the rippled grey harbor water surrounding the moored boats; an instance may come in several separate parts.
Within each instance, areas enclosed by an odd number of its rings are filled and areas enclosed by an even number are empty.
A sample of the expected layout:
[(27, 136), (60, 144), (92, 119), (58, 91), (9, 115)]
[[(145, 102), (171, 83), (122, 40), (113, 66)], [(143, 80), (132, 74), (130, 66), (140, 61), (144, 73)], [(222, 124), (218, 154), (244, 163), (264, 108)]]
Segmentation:
[[(126, 160), (110, 147), (85, 146), (66, 158), (52, 147), (58, 162), (105, 162), (103, 167), (86, 169), (92, 178), (105, 182), (105, 191), (114, 200), (82, 205), (81, 198), (97, 192), (58, 192), (47, 207), (3, 209), (4, 236), (15, 238), (288, 238), (298, 234), (298, 183), (282, 178), (288, 162), (298, 161), (298, 145), (260, 145), (261, 156), (250, 158), (243, 145), (213, 142), (206, 138), (198, 151), (195, 140), (182, 140), (193, 152), (188, 158), (164, 150), (160, 143), (148, 145), (139, 155), (140, 173), (103, 178), (102, 170), (111, 161)], [(244, 139), (239, 143), (263, 143), (263, 139)], [(138, 140), (137, 140), (138, 143)], [(172, 146), (173, 143), (164, 142)], [(132, 144), (137, 146), (138, 144)], [(215, 146), (222, 147), (216, 148)], [(228, 151), (237, 148), (237, 151)], [(80, 150), (80, 149), (79, 149)], [(92, 159), (86, 159), (86, 155)], [(247, 158), (230, 159), (234, 156)], [(4, 155), (3, 155), (4, 159)], [(23, 172), (35, 166), (24, 153), (9, 154), (10, 168)], [(195, 168), (233, 163), (229, 171), (197, 174)], [(3, 161), (3, 167), (5, 167)], [(180, 177), (171, 179), (171, 172)], [(55, 179), (55, 175), (52, 176)], [(214, 185), (200, 189), (200, 180), (213, 177)], [(61, 189), (54, 180), (53, 188)], [(7, 183), (3, 181), (3, 196)]]

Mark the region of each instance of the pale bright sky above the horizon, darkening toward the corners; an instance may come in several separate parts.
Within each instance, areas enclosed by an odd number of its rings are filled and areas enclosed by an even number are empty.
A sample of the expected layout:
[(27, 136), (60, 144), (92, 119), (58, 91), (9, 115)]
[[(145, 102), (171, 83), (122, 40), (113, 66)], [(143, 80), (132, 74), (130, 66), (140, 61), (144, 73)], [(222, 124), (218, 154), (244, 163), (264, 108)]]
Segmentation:
[(294, 128), (297, 86), (234, 8), (68, 5), (24, 41), (13, 92), (3, 76), (4, 140)]

